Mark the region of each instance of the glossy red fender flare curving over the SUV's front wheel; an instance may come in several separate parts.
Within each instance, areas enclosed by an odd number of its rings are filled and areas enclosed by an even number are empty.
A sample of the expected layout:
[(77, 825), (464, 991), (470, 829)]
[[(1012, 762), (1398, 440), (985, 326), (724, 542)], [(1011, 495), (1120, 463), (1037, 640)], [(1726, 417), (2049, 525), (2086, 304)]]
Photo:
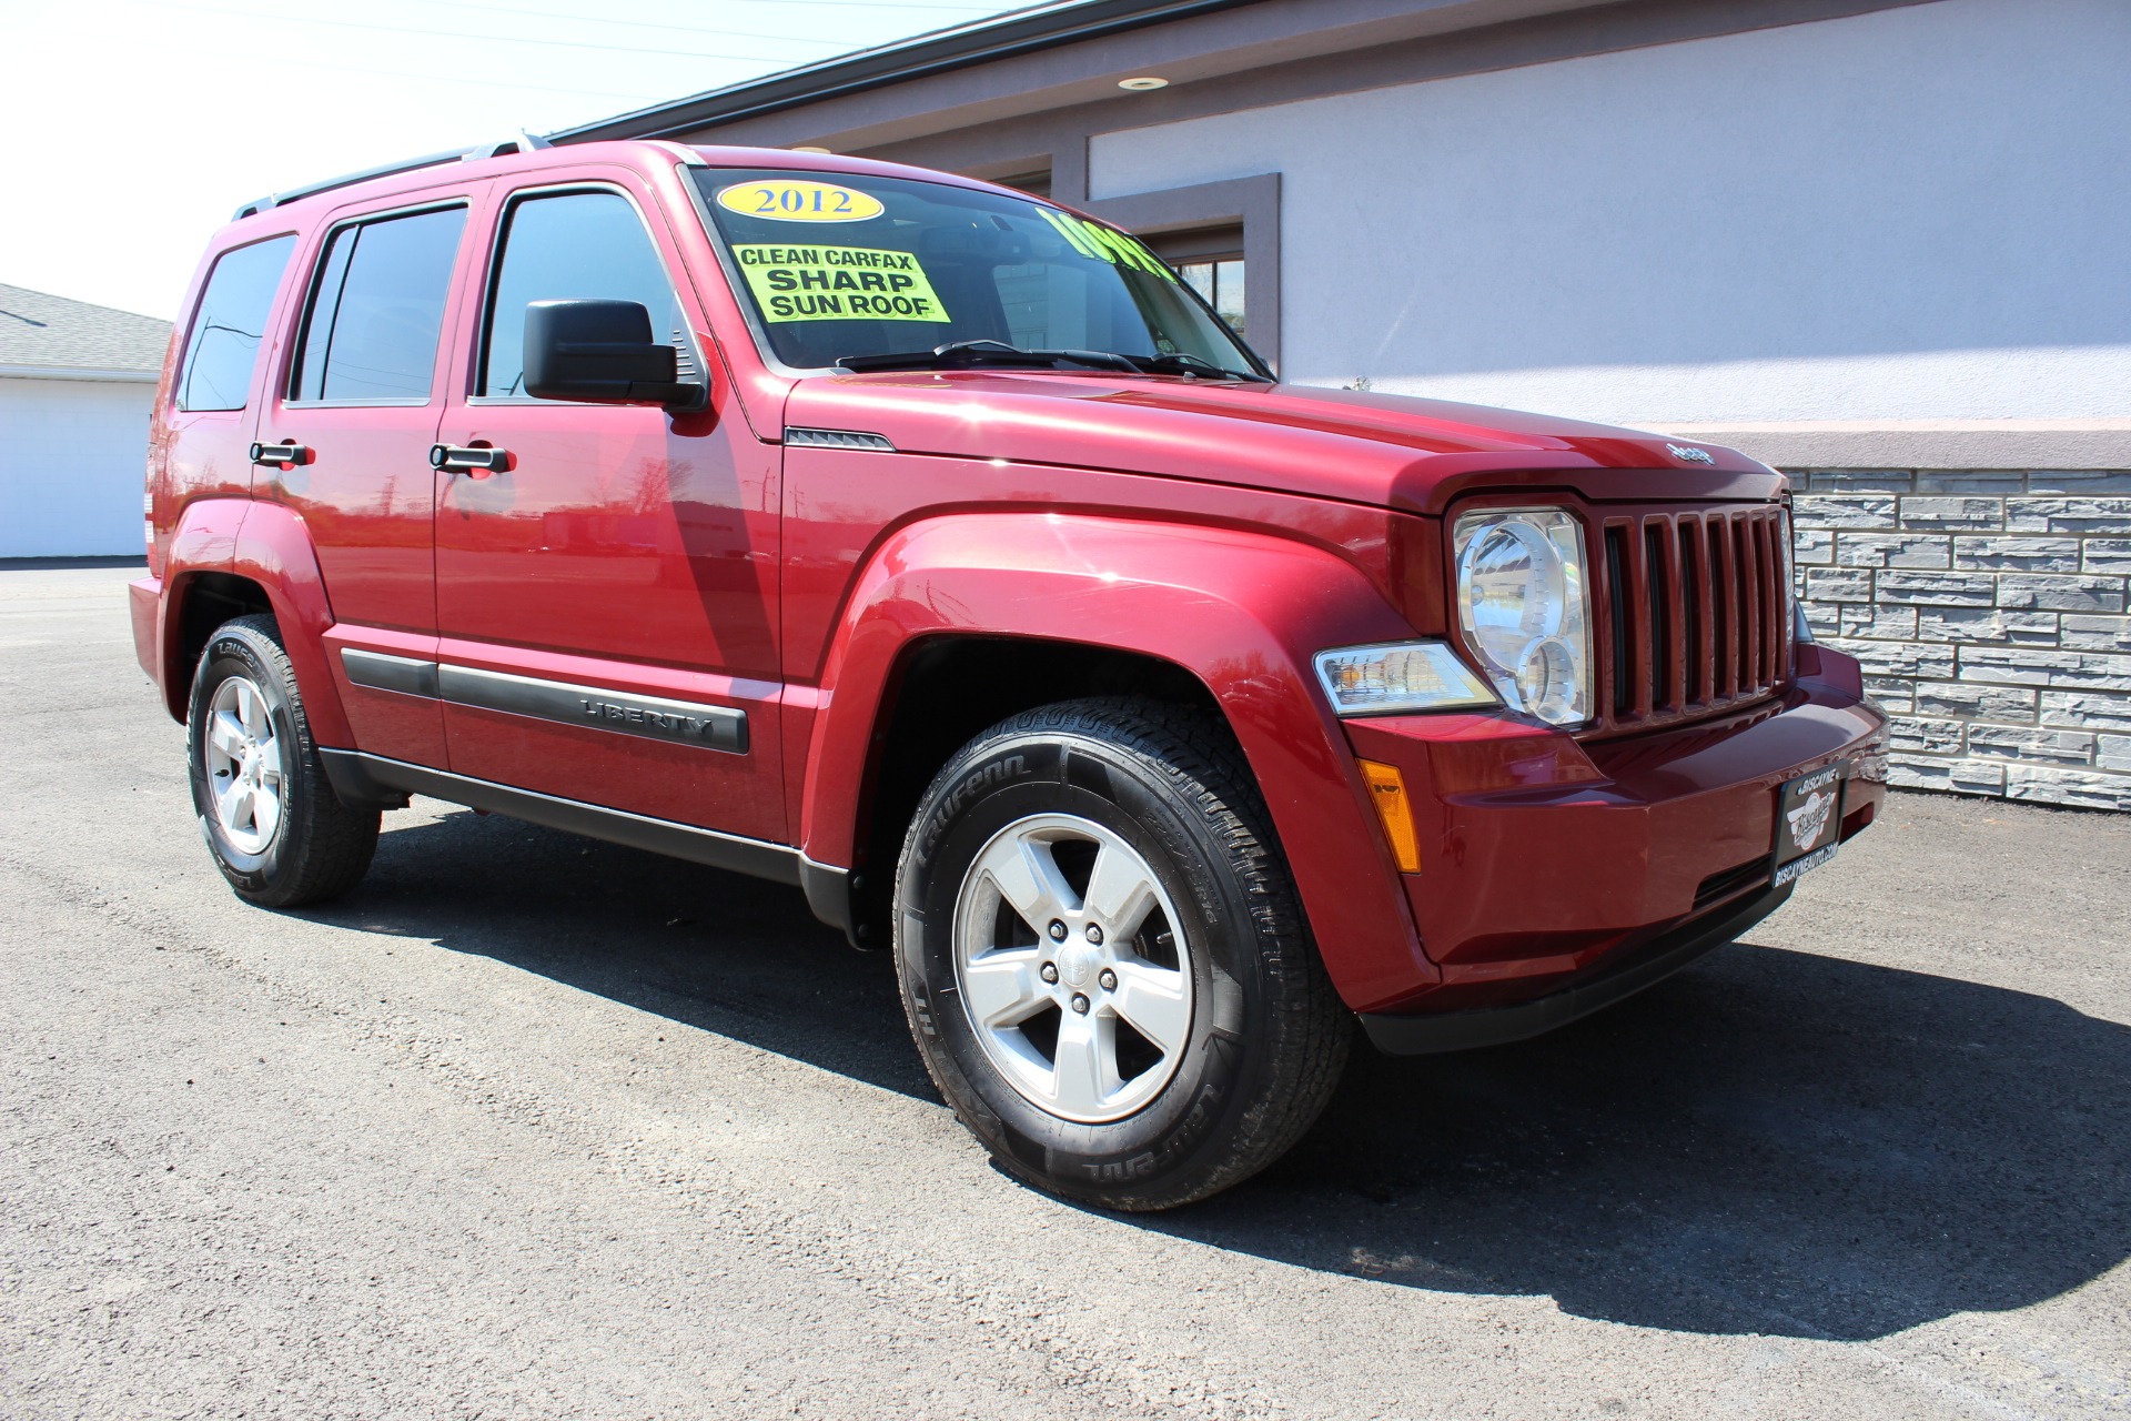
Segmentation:
[(1227, 718), (1272, 814), (1340, 997), (1434, 980), (1347, 735), (1311, 658), (1413, 626), (1338, 554), (1298, 539), (1078, 513), (959, 513), (884, 539), (823, 667), (799, 839), (850, 865), (884, 690), (936, 635), (1076, 641), (1183, 667)]

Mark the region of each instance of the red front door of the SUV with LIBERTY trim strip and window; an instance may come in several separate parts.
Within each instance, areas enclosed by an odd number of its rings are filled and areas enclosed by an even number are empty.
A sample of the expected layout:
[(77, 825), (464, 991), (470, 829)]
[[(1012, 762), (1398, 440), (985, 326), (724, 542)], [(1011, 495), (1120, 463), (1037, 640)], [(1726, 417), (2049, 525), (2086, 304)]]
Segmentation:
[[(784, 842), (778, 447), (739, 415), (650, 194), (605, 168), (539, 179), (494, 205), (437, 437), (497, 464), (437, 501), (452, 771)], [(524, 311), (565, 298), (644, 305), (710, 407), (526, 396)]]

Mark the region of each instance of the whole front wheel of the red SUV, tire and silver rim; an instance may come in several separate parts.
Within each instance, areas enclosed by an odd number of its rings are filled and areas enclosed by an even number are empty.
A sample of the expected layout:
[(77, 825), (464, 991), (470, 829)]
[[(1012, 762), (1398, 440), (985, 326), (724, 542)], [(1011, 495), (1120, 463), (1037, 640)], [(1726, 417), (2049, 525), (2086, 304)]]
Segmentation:
[(1279, 1159), (1351, 1038), (1227, 729), (1153, 701), (1048, 705), (965, 746), (904, 842), (895, 954), (961, 1121), (1106, 1208)]

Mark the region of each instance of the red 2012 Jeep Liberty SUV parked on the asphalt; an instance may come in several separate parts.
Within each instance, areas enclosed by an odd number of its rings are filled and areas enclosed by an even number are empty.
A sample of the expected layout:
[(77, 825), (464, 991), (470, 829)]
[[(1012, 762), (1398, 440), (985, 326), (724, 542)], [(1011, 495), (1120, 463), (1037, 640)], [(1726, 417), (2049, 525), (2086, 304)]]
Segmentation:
[(132, 624), (241, 897), (409, 795), (795, 884), (1006, 1170), (1138, 1210), (1291, 1146), (1355, 1016), (1545, 1031), (1871, 822), (1788, 499), (1279, 383), (1006, 187), (520, 141), (213, 239)]

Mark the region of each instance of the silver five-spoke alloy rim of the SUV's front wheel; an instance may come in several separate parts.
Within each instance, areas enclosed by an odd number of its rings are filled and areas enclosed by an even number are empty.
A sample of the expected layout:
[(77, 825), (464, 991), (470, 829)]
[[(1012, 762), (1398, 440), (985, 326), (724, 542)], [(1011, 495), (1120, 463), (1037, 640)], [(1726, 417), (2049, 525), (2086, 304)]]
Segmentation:
[(995, 833), (963, 873), (955, 984), (985, 1057), (1038, 1110), (1146, 1108), (1191, 1040), (1191, 944), (1153, 867), (1074, 814)]

